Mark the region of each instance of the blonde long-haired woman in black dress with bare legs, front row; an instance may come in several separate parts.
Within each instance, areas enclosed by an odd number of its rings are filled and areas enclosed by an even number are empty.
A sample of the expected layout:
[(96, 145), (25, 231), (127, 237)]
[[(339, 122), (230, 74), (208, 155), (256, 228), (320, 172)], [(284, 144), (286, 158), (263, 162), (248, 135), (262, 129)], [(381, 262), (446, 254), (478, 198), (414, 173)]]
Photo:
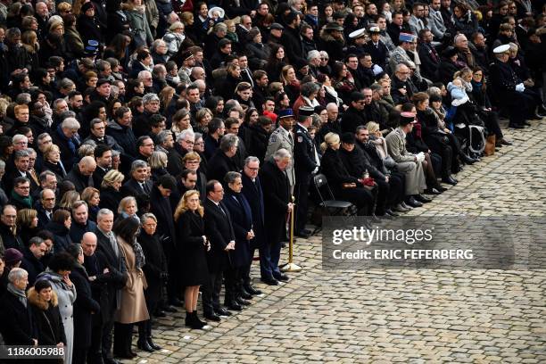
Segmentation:
[(178, 243), (182, 247), (182, 284), (186, 286), (186, 327), (203, 328), (206, 324), (197, 317), (199, 286), (209, 277), (205, 253), (211, 249), (204, 233), (203, 206), (199, 192), (189, 190), (182, 196), (174, 213)]

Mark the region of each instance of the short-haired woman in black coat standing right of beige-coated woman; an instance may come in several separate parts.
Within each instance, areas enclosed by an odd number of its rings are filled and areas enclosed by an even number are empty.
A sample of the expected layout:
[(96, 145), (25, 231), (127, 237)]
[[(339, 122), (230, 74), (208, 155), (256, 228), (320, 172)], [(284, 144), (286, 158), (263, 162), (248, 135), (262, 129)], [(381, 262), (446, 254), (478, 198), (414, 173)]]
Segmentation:
[[(148, 287), (145, 289), (145, 300), (148, 312), (155, 312), (162, 300), (163, 285), (167, 280), (167, 258), (163, 252), (160, 240), (155, 234), (157, 228), (157, 218), (153, 213), (145, 213), (140, 217), (142, 230), (138, 236), (138, 244), (142, 246), (145, 254), (146, 264), (142, 268), (145, 272)], [(152, 340), (152, 315), (146, 320), (144, 325), (138, 325), (139, 337), (145, 337), (146, 343), (153, 350), (161, 350), (161, 346), (153, 343)], [(145, 343), (138, 343), (145, 347)]]

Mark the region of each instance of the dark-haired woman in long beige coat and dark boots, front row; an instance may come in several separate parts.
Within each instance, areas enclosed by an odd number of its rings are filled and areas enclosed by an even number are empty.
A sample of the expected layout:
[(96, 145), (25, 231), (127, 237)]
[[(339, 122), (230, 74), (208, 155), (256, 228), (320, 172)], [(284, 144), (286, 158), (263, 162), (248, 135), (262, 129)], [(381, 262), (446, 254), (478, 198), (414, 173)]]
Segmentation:
[(120, 252), (125, 257), (128, 279), (121, 290), (120, 310), (115, 314), (114, 355), (119, 358), (133, 359), (136, 354), (131, 351), (133, 324), (150, 319), (144, 290), (147, 287), (142, 266), (145, 264), (144, 253), (136, 243), (136, 233), (140, 223), (137, 219), (122, 219), (113, 227), (118, 237)]

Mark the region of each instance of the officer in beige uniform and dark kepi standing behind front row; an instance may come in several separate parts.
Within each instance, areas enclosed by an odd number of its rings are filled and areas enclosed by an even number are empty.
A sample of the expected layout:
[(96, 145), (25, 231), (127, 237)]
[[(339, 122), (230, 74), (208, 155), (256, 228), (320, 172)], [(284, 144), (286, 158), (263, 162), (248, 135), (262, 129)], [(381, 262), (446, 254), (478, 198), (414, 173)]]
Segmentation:
[[(278, 128), (276, 128), (271, 136), (269, 136), (268, 150), (266, 151), (265, 160), (270, 160), (279, 149), (285, 149), (290, 153), (290, 157), (294, 157), (294, 135), (292, 128), (294, 127), (294, 112), (292, 109), (285, 109), (278, 112), (277, 116)], [(294, 161), (294, 159), (293, 159)], [(290, 183), (290, 193), (294, 194), (295, 174), (294, 164), (291, 163), (285, 170), (286, 176)]]

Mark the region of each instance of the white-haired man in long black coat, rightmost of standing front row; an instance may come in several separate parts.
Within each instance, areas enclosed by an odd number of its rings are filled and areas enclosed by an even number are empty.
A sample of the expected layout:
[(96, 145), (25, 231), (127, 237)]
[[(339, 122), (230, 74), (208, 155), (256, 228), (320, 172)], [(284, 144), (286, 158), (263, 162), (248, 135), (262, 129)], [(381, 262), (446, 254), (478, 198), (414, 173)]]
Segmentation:
[[(272, 277), (262, 277), (267, 281), (288, 280), (278, 268), (280, 260), (281, 241), (285, 238), (286, 213), (293, 211), (290, 195), (290, 183), (285, 170), (290, 164), (290, 153), (281, 148), (273, 154), (272, 161), (266, 161), (261, 169), (260, 179), (264, 195), (265, 228), (268, 232), (268, 244), (271, 257), (270, 263)], [(268, 270), (269, 270), (268, 269)]]

